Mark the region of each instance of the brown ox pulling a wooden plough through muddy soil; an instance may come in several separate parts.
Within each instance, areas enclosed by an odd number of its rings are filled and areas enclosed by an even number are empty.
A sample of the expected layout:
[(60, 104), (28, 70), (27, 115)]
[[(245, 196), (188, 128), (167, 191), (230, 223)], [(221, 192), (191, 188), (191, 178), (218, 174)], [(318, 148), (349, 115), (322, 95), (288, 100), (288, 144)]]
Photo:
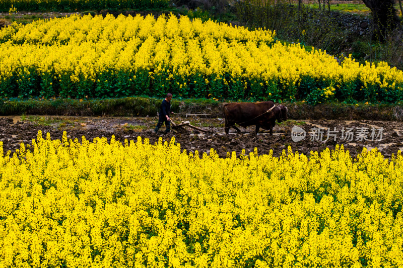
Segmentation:
[(231, 127), (238, 133), (242, 133), (235, 126), (241, 127), (256, 125), (255, 132), (259, 128), (270, 129), (270, 135), (273, 135), (273, 127), (277, 122), (281, 123), (287, 120), (287, 107), (284, 105), (275, 106), (274, 102), (261, 103), (228, 103), (224, 105), (225, 133), (228, 134)]

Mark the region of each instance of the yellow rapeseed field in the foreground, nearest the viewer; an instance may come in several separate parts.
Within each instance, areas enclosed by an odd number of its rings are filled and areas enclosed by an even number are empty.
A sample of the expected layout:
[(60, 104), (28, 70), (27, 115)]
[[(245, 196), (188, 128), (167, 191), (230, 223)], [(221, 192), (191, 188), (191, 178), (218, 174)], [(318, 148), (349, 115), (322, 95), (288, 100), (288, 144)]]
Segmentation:
[(403, 266), (400, 151), (220, 158), (39, 132), (0, 156), (0, 267)]

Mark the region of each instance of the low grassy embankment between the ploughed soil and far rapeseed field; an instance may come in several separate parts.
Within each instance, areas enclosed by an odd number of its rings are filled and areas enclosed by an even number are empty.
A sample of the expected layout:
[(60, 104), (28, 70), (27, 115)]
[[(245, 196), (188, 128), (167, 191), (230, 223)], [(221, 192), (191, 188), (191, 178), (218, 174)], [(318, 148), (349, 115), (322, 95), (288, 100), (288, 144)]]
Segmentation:
[[(11, 99), (0, 104), (0, 116), (65, 115), (65, 116), (156, 116), (160, 99), (129, 97), (121, 99)], [(222, 117), (224, 103), (208, 99), (173, 100), (176, 113), (209, 114)], [(403, 120), (403, 107), (392, 104), (325, 103), (316, 106), (305, 102), (283, 103), (289, 108), (290, 119), (328, 120)]]

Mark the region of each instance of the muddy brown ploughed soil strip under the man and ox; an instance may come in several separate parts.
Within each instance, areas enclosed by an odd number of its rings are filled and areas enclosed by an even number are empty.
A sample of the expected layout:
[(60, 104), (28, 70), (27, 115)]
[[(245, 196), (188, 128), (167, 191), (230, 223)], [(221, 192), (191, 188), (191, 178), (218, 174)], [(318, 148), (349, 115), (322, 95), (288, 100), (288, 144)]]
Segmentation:
[[(158, 142), (159, 137), (164, 141), (170, 141), (175, 137), (175, 141), (180, 143), (181, 149), (187, 152), (195, 152), (199, 154), (210, 153), (210, 149), (214, 148), (221, 157), (225, 157), (227, 152), (235, 151), (240, 155), (242, 149), (246, 154), (257, 148), (259, 155), (268, 154), (273, 150), (274, 156), (280, 156), (283, 150), (287, 151), (291, 146), (293, 152), (298, 151), (305, 155), (310, 155), (311, 151), (323, 151), (326, 148), (334, 149), (336, 144), (343, 144), (345, 150), (349, 150), (350, 155), (355, 157), (362, 152), (363, 148), (372, 149), (377, 147), (385, 158), (391, 158), (392, 154), (396, 154), (398, 150), (403, 150), (403, 122), (390, 121), (345, 121), (345, 120), (287, 120), (281, 124), (276, 124), (273, 129), (273, 136), (269, 131), (260, 130), (254, 134), (254, 126), (247, 129), (240, 128), (242, 134), (236, 133), (234, 129), (230, 130), (229, 135), (224, 132), (223, 118), (201, 118), (201, 117), (178, 117), (172, 118), (176, 124), (181, 121), (190, 121), (193, 126), (204, 130), (211, 129), (213, 133), (204, 133), (189, 127), (183, 127), (178, 131), (171, 129), (171, 133), (164, 135), (165, 126), (163, 126), (158, 134), (154, 133), (154, 128), (158, 119), (139, 118), (139, 117), (61, 117), (61, 116), (14, 116), (0, 117), (0, 141), (3, 141), (4, 153), (11, 151), (11, 155), (20, 148), (21, 143), (26, 145), (32, 144), (32, 139), (36, 139), (39, 130), (42, 131), (43, 137), (50, 132), (52, 139), (61, 139), (63, 131), (67, 132), (69, 139), (77, 138), (80, 142), (82, 136), (87, 140), (93, 141), (95, 137), (106, 137), (108, 141), (112, 135), (120, 142), (124, 139), (135, 140), (141, 136), (143, 139), (148, 138), (150, 143)], [(214, 126), (210, 128), (209, 126)], [(301, 127), (306, 133), (306, 137), (298, 142), (293, 141), (291, 130), (294, 126)], [(312, 140), (315, 133), (314, 128), (323, 129), (323, 137), (317, 135)], [(336, 136), (327, 137), (327, 131), (330, 128)], [(341, 137), (342, 129), (352, 128), (353, 139), (345, 140)], [(362, 128), (366, 129), (367, 140), (359, 137)], [(383, 128), (382, 130), (380, 128)], [(372, 129), (377, 137), (371, 140)], [(379, 134), (382, 133), (380, 139)], [(345, 135), (346, 136), (346, 135)], [(351, 139), (351, 137), (350, 137)], [(379, 140), (380, 139), (380, 140)]]

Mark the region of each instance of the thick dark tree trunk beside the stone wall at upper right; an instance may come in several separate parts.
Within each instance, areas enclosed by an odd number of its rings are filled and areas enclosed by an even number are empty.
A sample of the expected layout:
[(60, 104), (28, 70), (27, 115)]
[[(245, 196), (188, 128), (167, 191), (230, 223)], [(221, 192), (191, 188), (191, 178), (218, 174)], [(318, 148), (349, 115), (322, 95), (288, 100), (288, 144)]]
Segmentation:
[(394, 8), (395, 0), (363, 0), (363, 2), (372, 12), (374, 22), (372, 38), (384, 41), (387, 33), (394, 30), (398, 23)]

